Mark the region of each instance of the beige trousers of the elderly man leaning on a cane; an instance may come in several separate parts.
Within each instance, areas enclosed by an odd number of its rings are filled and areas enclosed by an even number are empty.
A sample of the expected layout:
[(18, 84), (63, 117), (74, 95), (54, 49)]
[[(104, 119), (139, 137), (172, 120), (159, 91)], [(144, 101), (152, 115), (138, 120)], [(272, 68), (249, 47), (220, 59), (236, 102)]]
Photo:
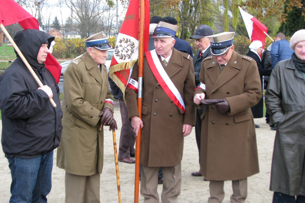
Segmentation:
[(100, 174), (77, 176), (66, 172), (66, 203), (99, 203)]

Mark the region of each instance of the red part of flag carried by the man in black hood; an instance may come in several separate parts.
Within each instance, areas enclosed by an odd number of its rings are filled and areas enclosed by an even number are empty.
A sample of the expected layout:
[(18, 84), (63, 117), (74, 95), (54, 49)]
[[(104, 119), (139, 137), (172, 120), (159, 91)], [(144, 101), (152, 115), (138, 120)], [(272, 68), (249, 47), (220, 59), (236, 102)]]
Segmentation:
[[(0, 4), (0, 21), (3, 26), (19, 23), (23, 29), (39, 30), (39, 23), (30, 13), (13, 0), (2, 0)], [(59, 82), (61, 66), (57, 60), (48, 53), (45, 67), (52, 73), (56, 82)]]

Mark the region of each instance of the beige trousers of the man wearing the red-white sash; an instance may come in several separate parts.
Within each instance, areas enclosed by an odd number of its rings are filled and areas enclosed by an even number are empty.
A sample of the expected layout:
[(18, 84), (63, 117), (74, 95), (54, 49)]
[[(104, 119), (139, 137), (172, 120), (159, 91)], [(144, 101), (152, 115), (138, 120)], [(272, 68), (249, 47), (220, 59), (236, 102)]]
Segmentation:
[[(144, 203), (159, 203), (158, 195), (159, 167), (141, 167), (141, 189)], [(162, 167), (163, 189), (162, 203), (177, 203), (181, 188), (181, 162), (176, 166)]]

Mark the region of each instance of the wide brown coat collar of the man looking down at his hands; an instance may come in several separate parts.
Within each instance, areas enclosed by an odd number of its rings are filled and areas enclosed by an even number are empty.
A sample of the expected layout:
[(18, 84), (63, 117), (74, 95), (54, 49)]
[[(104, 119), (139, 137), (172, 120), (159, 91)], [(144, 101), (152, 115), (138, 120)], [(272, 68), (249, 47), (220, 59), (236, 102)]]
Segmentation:
[[(227, 65), (220, 72), (220, 67), (215, 58), (210, 60), (210, 63), (207, 66), (207, 74), (210, 77), (211, 81), (213, 82), (212, 92), (217, 90), (219, 87), (224, 85), (226, 82), (231, 80), (239, 70), (241, 69), (241, 57), (237, 52), (233, 52), (230, 60), (228, 61)], [(222, 74), (220, 74), (222, 73)]]

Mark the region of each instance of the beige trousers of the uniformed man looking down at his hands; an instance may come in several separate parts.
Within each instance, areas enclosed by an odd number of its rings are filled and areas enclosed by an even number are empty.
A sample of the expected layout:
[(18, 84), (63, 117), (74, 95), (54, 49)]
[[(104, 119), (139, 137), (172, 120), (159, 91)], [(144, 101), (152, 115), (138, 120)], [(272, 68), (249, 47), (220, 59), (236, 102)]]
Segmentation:
[[(221, 203), (224, 199), (224, 181), (210, 180), (210, 197), (208, 203)], [(232, 180), (231, 203), (244, 203), (247, 197), (247, 178)]]

